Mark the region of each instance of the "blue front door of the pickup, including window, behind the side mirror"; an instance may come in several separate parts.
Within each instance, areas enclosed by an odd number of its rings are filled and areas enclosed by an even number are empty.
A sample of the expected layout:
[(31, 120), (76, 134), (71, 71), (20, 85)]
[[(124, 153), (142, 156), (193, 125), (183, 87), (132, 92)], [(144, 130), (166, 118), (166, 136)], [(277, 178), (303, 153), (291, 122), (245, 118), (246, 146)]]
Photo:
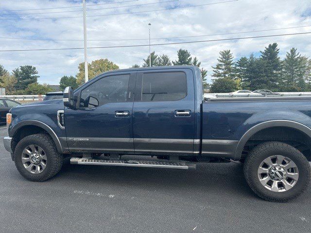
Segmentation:
[[(65, 107), (69, 150), (134, 153), (132, 109), (135, 72), (116, 72), (95, 78), (79, 93), (76, 110)], [(88, 104), (98, 100), (98, 106)]]

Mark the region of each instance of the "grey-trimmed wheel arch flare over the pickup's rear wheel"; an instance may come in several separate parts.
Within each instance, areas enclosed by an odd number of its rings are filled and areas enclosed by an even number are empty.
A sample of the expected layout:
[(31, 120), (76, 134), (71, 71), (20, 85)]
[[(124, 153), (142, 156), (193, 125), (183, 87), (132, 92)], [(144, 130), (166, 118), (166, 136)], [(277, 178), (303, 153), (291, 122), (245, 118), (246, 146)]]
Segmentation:
[(299, 122), (291, 121), (291, 120), (269, 120), (265, 122), (261, 122), (253, 127), (251, 127), (246, 133), (243, 134), (242, 138), (240, 139), (236, 150), (234, 152), (234, 160), (240, 160), (242, 155), (242, 150), (246, 145), (247, 141), (256, 133), (261, 130), (273, 128), (273, 127), (285, 127), (294, 129), (300, 133), (304, 133), (309, 139), (311, 140), (311, 129)]

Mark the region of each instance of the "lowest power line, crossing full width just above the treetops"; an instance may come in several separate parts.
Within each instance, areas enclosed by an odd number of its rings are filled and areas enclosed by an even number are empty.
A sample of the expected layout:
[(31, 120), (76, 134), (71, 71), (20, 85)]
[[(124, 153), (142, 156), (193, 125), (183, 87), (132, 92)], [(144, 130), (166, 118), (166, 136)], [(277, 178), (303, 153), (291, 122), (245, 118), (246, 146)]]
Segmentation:
[[(259, 36), (247, 36), (247, 37), (237, 37), (237, 38), (227, 38), (227, 39), (198, 40), (198, 41), (186, 41), (186, 42), (173, 42), (173, 43), (151, 44), (150, 46), (190, 44), (190, 43), (226, 41), (226, 40), (241, 40), (241, 39), (264, 38), (264, 37), (274, 37), (274, 36), (301, 35), (301, 34), (310, 34), (310, 33), (311, 33), (311, 32), (307, 32), (307, 33), (275, 34), (275, 35), (259, 35)], [(145, 47), (145, 46), (149, 46), (149, 44), (146, 44), (146, 45), (122, 45), (122, 46), (88, 47), (87, 49), (108, 49), (108, 48), (127, 48), (127, 47)], [(0, 52), (46, 51), (46, 50), (83, 50), (83, 49), (84, 49), (84, 48), (33, 49), (33, 50), (0, 50)]]

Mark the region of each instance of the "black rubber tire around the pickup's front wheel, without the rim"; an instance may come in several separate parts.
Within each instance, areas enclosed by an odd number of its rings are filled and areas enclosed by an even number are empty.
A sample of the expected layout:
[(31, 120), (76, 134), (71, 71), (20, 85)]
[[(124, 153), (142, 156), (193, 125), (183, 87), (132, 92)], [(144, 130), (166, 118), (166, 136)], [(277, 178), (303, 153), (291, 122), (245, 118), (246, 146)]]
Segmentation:
[[(29, 145), (35, 144), (41, 147), (46, 156), (47, 163), (45, 169), (38, 174), (33, 174), (26, 170), (22, 163), (22, 151)], [(15, 155), (15, 166), (19, 173), (30, 181), (42, 182), (55, 176), (63, 165), (63, 155), (58, 153), (56, 146), (50, 137), (50, 135), (45, 133), (38, 133), (24, 137), (21, 139), (14, 150)]]

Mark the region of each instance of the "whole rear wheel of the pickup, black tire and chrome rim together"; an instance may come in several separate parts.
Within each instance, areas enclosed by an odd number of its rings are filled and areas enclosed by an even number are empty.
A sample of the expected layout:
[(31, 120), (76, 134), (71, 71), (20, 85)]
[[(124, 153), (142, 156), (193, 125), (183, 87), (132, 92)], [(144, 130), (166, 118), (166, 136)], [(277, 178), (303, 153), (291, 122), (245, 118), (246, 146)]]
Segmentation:
[(294, 147), (266, 142), (246, 157), (244, 175), (259, 197), (282, 202), (298, 197), (307, 189), (311, 168), (306, 157)]

